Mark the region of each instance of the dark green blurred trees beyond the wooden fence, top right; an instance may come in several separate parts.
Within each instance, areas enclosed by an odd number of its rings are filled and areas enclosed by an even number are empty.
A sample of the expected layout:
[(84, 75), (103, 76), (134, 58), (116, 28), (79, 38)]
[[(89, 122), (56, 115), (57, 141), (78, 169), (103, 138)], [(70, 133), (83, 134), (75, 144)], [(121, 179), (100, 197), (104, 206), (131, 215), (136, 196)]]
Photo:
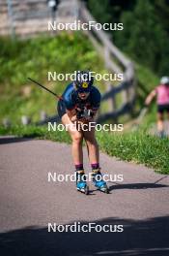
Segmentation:
[(169, 0), (87, 0), (100, 23), (124, 23), (109, 32), (115, 45), (135, 61), (163, 76), (169, 73)]

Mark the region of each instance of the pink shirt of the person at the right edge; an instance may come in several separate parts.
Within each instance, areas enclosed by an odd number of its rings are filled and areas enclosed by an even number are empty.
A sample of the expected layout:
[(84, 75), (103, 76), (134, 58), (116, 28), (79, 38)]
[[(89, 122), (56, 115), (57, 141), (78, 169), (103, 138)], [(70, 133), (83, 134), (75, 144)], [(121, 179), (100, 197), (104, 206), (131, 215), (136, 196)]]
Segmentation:
[(168, 105), (169, 104), (169, 86), (164, 84), (159, 84), (156, 88), (156, 102), (158, 105)]

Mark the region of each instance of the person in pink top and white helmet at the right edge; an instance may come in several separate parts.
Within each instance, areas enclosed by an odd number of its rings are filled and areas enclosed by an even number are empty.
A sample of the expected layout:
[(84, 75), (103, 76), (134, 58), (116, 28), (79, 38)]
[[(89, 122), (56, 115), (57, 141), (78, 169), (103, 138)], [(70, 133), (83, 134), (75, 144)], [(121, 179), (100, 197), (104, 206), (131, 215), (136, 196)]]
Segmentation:
[(157, 104), (157, 130), (160, 137), (164, 136), (164, 112), (169, 118), (169, 77), (162, 77), (160, 84), (148, 95), (145, 105), (149, 106), (156, 96)]

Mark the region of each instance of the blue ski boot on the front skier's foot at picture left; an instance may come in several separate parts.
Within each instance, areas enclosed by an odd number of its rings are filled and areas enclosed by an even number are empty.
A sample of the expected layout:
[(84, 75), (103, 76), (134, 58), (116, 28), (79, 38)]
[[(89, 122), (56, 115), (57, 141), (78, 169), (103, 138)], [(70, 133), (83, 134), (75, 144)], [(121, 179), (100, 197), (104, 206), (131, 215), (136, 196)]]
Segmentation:
[(84, 193), (85, 195), (89, 194), (89, 187), (86, 183), (84, 170), (76, 171), (76, 188), (78, 191)]

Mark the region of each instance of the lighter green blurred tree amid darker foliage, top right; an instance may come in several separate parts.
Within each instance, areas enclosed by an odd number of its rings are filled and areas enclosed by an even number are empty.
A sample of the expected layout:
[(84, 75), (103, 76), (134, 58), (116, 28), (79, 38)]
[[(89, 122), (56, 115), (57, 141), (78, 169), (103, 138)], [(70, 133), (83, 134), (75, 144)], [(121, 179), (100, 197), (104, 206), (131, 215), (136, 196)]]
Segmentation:
[(161, 67), (169, 72), (168, 61), (165, 60), (169, 40), (155, 14), (155, 5), (150, 0), (138, 0), (134, 11), (125, 12), (121, 19), (124, 31), (116, 34), (117, 45), (155, 72), (163, 73)]

